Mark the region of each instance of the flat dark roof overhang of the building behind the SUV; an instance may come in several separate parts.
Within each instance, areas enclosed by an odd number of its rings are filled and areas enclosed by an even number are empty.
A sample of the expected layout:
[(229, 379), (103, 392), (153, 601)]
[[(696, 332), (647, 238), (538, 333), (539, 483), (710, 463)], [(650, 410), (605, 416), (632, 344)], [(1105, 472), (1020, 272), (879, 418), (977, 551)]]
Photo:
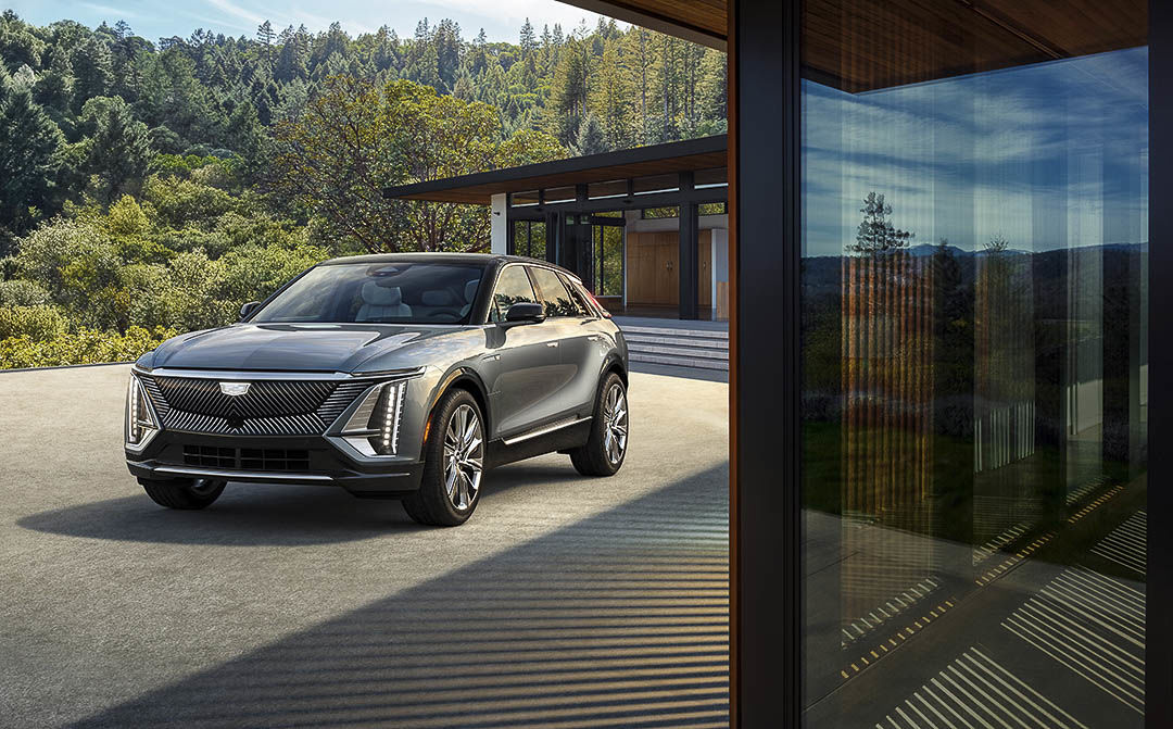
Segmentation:
[(387, 188), (382, 194), (387, 198), (488, 205), (494, 195), (501, 194), (723, 168), (727, 143), (725, 135), (705, 136), (416, 182)]

